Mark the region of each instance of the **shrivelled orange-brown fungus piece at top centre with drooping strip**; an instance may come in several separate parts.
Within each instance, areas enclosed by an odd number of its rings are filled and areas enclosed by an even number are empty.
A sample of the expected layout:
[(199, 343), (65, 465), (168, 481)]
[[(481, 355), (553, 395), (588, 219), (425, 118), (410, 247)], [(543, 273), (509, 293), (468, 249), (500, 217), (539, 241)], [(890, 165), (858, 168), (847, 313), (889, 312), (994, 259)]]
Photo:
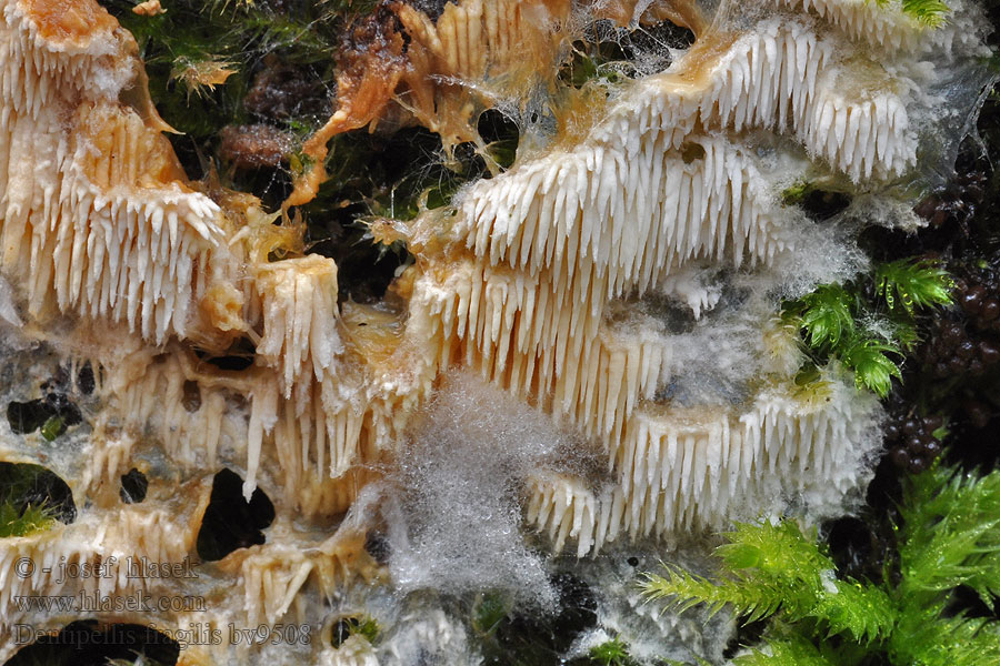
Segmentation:
[(432, 21), (392, 2), (360, 19), (338, 57), (337, 112), (306, 143), (312, 169), (283, 206), (316, 196), (330, 139), (374, 130), (389, 112), (439, 133), (446, 151), (467, 141), (483, 148), (474, 119), (498, 99), (527, 99), (556, 70), (570, 10), (568, 0), (464, 0)]

